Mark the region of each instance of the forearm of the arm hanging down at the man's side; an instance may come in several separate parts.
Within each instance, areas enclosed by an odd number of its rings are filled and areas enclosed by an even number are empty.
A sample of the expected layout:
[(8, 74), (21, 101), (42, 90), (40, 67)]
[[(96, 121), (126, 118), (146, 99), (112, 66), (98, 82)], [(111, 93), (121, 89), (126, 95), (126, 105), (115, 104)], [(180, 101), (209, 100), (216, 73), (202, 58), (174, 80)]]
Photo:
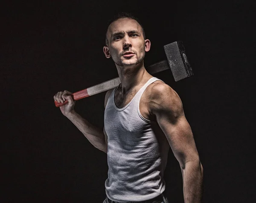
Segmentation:
[(183, 175), (183, 195), (185, 203), (201, 203), (203, 196), (203, 167), (201, 163), (188, 162)]

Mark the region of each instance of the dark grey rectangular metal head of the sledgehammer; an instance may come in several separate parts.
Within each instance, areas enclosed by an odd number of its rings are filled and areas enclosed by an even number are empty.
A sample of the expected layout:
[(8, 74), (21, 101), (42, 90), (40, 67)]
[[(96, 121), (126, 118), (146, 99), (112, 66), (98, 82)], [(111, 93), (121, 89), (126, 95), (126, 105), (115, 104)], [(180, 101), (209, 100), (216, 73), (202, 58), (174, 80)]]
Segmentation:
[(182, 41), (167, 44), (163, 48), (175, 82), (194, 75)]

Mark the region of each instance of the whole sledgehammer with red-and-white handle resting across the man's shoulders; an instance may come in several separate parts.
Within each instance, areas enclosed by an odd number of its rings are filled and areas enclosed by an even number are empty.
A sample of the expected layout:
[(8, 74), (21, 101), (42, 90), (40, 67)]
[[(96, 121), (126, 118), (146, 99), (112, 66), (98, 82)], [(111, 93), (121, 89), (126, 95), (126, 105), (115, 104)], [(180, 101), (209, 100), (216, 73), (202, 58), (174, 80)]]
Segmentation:
[[(162, 60), (158, 63), (154, 63), (151, 66), (148, 66), (146, 70), (149, 74), (154, 74), (160, 71), (171, 69), (172, 75), (175, 82), (182, 80), (187, 77), (193, 76), (192, 68), (189, 64), (189, 60), (185, 54), (185, 48), (182, 41), (176, 41), (170, 44), (163, 46), (166, 53), (166, 60)], [(98, 85), (83, 89), (71, 94), (74, 100), (80, 100), (84, 97), (89, 97), (94, 94), (98, 94), (104, 91), (115, 88), (120, 84), (119, 77), (108, 80), (106, 82), (100, 83)], [(55, 106), (63, 106), (67, 103), (66, 100), (64, 103), (55, 101)]]

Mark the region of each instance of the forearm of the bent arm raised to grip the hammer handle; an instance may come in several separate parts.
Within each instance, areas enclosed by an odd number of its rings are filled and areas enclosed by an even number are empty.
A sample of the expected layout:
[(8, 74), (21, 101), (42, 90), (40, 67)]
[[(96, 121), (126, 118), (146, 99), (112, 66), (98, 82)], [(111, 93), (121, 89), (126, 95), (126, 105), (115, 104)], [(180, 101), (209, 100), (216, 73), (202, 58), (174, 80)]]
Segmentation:
[(84, 134), (93, 146), (107, 153), (105, 135), (102, 129), (93, 126), (75, 111), (68, 114), (67, 118)]

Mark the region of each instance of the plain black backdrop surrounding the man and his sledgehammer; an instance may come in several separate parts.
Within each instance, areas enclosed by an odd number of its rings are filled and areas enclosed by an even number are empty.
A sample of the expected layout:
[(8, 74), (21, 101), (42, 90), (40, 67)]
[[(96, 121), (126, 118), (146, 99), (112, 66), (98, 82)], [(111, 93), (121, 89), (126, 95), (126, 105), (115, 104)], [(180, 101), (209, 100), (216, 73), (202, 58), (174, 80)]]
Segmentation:
[[(151, 50), (145, 66), (165, 59), (163, 46), (183, 41), (194, 76), (175, 82), (204, 167), (204, 203), (256, 201), (255, 11), (251, 1), (34, 1), (1, 6), (3, 201), (101, 203), (106, 154), (94, 148), (53, 96), (117, 77), (102, 51), (116, 11), (143, 23)], [(75, 109), (103, 128), (105, 92)], [(170, 203), (182, 203), (182, 176), (172, 152), (165, 171)]]

